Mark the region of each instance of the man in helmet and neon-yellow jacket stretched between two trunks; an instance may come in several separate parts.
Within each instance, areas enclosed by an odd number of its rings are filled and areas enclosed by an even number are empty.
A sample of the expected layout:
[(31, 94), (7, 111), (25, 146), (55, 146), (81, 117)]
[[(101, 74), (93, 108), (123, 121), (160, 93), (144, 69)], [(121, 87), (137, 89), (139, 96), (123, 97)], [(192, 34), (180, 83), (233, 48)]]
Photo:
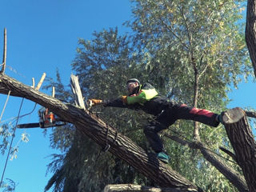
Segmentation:
[(154, 86), (149, 83), (141, 85), (137, 78), (130, 78), (126, 82), (128, 96), (122, 96), (111, 101), (90, 99), (93, 105), (102, 103), (103, 106), (115, 106), (130, 109), (143, 110), (148, 114), (153, 114), (155, 121), (150, 122), (144, 128), (144, 134), (150, 146), (157, 154), (157, 158), (168, 163), (170, 157), (166, 154), (162, 141), (158, 136), (160, 130), (167, 129), (177, 119), (188, 119), (202, 122), (208, 126), (218, 126), (222, 122), (222, 116), (214, 114), (210, 110), (202, 110), (185, 104), (177, 104), (169, 98), (158, 94)]

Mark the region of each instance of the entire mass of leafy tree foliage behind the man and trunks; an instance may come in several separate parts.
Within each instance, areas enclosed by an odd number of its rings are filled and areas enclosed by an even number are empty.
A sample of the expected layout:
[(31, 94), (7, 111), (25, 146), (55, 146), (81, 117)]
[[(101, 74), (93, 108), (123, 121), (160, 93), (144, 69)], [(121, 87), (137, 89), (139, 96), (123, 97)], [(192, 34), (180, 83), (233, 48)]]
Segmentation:
[[(78, 40), (71, 65), (85, 100), (117, 98), (126, 94), (128, 78), (139, 78), (176, 102), (215, 113), (226, 110), (230, 85), (237, 86), (253, 71), (243, 33), (242, 1), (131, 2), (133, 18), (126, 21), (129, 34), (119, 34), (115, 28), (95, 32), (90, 40)], [(56, 79), (49, 82), (49, 86), (58, 87), (56, 98), (74, 102), (58, 71)], [(91, 113), (146, 152), (151, 151), (142, 131), (150, 118), (148, 114), (102, 106), (94, 107)], [(190, 182), (205, 191), (238, 191), (227, 174), (232, 172), (239, 178), (241, 170), (219, 151), (220, 146), (232, 150), (222, 126), (211, 128), (178, 121), (161, 136), (171, 157), (169, 166)], [(120, 158), (102, 154), (102, 149), (73, 125), (56, 127), (51, 142), (62, 154), (53, 155), (49, 167), (54, 175), (46, 190), (54, 186), (54, 191), (101, 191), (110, 183), (156, 186)], [(187, 144), (193, 142), (199, 146)], [(225, 174), (222, 170), (230, 172)]]

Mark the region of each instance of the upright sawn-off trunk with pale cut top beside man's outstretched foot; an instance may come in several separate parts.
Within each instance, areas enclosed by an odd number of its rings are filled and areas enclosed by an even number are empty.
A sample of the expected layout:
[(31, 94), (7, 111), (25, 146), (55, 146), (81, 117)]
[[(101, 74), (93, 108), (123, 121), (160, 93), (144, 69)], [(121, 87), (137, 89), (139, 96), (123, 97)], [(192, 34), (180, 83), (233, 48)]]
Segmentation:
[(234, 149), (235, 159), (242, 168), (250, 191), (256, 191), (256, 142), (241, 108), (234, 108), (223, 115), (226, 134)]

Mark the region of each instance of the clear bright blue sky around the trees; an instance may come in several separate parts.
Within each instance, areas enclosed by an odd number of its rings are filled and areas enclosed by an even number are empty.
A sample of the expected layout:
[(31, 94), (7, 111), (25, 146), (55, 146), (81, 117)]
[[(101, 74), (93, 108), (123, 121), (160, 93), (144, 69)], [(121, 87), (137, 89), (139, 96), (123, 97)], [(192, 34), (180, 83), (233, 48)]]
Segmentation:
[[(55, 77), (58, 67), (67, 85), (78, 38), (90, 39), (94, 31), (115, 26), (125, 33), (128, 29), (122, 23), (130, 18), (129, 0), (1, 1), (0, 55), (3, 29), (6, 27), (6, 74), (30, 85), (31, 78), (34, 77), (37, 83), (44, 72), (48, 77)], [(229, 107), (256, 108), (255, 84), (243, 82), (238, 87), (229, 94), (233, 99)], [(0, 95), (0, 111), (5, 101), (6, 95)], [(2, 121), (17, 116), (21, 101), (21, 98), (10, 98)], [(33, 106), (33, 102), (26, 100), (22, 114), (30, 112)], [(37, 122), (37, 110), (20, 123)], [(16, 192), (43, 191), (51, 176), (48, 174), (46, 177), (46, 165), (50, 162), (47, 156), (59, 152), (50, 148), (49, 134), (44, 136), (40, 129), (17, 130), (14, 146), (24, 131), (30, 135), (30, 141), (20, 143), (18, 158), (8, 162), (5, 178), (11, 178), (18, 184)], [(0, 156), (1, 176), (5, 160), (6, 155)]]

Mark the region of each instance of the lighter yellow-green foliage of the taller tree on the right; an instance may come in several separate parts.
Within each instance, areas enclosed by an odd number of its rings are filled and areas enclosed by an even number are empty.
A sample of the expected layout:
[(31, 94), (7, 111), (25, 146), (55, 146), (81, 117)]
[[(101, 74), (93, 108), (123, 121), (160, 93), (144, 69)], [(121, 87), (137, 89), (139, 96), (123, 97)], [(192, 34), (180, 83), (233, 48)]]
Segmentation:
[[(127, 26), (136, 31), (134, 45), (145, 53), (146, 60), (141, 63), (150, 79), (162, 93), (178, 102), (193, 105), (197, 100), (199, 108), (215, 113), (225, 110), (229, 101), (226, 95), (228, 86), (237, 86), (241, 80), (238, 77), (246, 78), (252, 72), (242, 25), (238, 22), (242, 18), (239, 2), (133, 2), (135, 17), (134, 21), (127, 22)], [(197, 89), (194, 87), (196, 80)], [(195, 91), (198, 91), (197, 98), (194, 98)], [(191, 122), (181, 122), (171, 129), (193, 140)], [(225, 134), (222, 128), (210, 129), (200, 125), (200, 136), (216, 153), (219, 153), (218, 146), (228, 143), (223, 141)], [(191, 181), (195, 179), (196, 183), (202, 183), (205, 190), (218, 191), (224, 190), (222, 186), (230, 186), (220, 176), (198, 180), (202, 175), (210, 175), (214, 168), (198, 166), (198, 162), (205, 160), (184, 146), (170, 141), (166, 146), (171, 157), (182, 159), (172, 161), (172, 167)], [(188, 166), (190, 172), (185, 168)]]

